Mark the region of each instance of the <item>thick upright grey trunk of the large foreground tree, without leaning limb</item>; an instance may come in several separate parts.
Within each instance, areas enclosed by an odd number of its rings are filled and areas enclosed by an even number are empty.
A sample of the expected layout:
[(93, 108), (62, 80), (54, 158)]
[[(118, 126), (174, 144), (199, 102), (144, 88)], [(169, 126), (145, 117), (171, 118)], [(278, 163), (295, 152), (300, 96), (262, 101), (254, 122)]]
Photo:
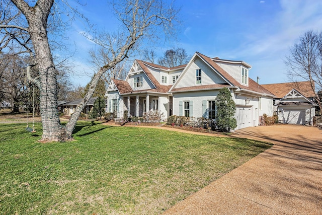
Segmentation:
[[(51, 2), (51, 3), (50, 3)], [(33, 41), (36, 62), (39, 68), (40, 114), (43, 135), (41, 141), (61, 141), (66, 139), (57, 108), (57, 79), (55, 65), (47, 37), (47, 17), (53, 1), (39, 4), (25, 14)]]

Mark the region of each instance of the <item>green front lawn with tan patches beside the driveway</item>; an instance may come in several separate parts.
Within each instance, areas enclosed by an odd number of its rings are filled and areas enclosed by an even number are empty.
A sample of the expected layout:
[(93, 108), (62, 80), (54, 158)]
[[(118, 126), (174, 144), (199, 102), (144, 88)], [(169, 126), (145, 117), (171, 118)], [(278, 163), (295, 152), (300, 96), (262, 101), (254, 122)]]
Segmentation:
[(0, 124), (2, 214), (159, 214), (271, 147), (93, 122), (42, 144), (24, 127)]

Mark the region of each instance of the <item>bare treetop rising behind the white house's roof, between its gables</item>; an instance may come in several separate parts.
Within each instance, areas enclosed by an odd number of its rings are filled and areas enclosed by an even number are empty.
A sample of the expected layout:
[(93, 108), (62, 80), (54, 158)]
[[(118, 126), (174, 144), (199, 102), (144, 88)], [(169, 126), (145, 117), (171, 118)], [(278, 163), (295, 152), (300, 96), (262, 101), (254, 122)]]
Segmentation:
[(158, 59), (158, 64), (175, 67), (189, 62), (187, 52), (183, 48), (169, 49), (165, 52), (164, 56)]

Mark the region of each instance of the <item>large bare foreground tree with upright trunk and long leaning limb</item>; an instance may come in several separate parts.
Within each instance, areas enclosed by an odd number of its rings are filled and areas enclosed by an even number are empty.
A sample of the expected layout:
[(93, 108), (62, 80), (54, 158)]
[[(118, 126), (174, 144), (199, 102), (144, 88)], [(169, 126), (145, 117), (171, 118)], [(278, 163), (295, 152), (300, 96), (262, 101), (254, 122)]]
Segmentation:
[[(117, 18), (123, 24), (118, 34), (108, 34), (118, 42), (109, 43), (96, 37), (93, 41), (108, 50), (111, 59), (97, 71), (93, 77), (89, 90), (85, 97), (77, 105), (65, 127), (60, 124), (57, 109), (57, 72), (48, 42), (47, 24), (54, 0), (38, 0), (25, 2), (23, 0), (11, 0), (25, 17), (25, 22), (2, 22), (0, 28), (4, 31), (21, 31), (30, 36), (35, 60), (39, 69), (39, 76), (31, 77), (29, 81), (35, 83), (40, 89), (40, 111), (42, 117), (43, 135), (42, 141), (60, 141), (71, 138), (72, 131), (82, 110), (92, 97), (95, 88), (102, 75), (109, 69), (122, 62), (135, 50), (138, 43), (145, 37), (153, 35), (154, 27), (161, 27), (165, 32), (172, 32), (173, 21), (177, 12), (173, 5), (168, 5), (156, 0), (124, 0), (113, 3)], [(24, 41), (26, 42), (26, 41)], [(27, 70), (29, 70), (28, 68)]]

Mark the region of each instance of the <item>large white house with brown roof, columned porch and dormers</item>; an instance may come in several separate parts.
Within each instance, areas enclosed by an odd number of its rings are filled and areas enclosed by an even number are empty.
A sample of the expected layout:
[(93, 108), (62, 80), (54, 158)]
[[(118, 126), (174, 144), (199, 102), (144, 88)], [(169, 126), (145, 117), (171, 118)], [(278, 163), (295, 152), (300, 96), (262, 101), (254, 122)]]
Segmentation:
[(105, 94), (107, 112), (122, 118), (161, 111), (171, 115), (214, 118), (215, 99), (228, 88), (236, 104), (237, 128), (256, 126), (259, 116), (273, 115), (274, 94), (249, 78), (244, 61), (210, 58), (196, 52), (187, 65), (168, 68), (134, 60), (125, 81), (113, 79)]

